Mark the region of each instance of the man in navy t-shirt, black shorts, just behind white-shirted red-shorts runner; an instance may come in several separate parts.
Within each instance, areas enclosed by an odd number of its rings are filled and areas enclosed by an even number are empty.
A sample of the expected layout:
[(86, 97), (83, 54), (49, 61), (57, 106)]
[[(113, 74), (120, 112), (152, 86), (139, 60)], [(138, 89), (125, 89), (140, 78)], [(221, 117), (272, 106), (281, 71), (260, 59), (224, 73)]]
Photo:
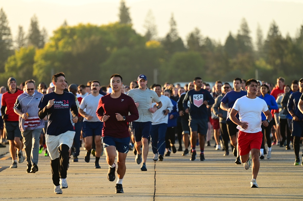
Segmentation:
[[(231, 112), (232, 107), (234, 106), (234, 103), (236, 102), (237, 99), (241, 98), (242, 96), (246, 96), (247, 92), (241, 90), (241, 83), (242, 79), (241, 78), (235, 78), (233, 85), (234, 85), (234, 90), (227, 92), (223, 99), (221, 100), (221, 105), (220, 108), (227, 111), (227, 119), (226, 119), (226, 125), (227, 125), (227, 131), (229, 134), (229, 138), (231, 140), (231, 145), (234, 146), (234, 156), (237, 157), (235, 163), (236, 164), (241, 164), (240, 156), (237, 153), (237, 132), (239, 131), (237, 129), (237, 125), (232, 122), (229, 119), (229, 113)], [(237, 119), (239, 120), (239, 114), (236, 115)]]

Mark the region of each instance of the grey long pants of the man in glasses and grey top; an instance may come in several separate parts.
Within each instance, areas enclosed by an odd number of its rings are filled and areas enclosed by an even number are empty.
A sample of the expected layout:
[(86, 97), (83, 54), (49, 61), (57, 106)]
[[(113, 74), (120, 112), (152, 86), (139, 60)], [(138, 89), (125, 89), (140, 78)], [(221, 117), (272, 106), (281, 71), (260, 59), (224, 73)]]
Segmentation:
[(42, 128), (22, 131), (25, 158), (28, 164), (38, 164), (39, 140)]

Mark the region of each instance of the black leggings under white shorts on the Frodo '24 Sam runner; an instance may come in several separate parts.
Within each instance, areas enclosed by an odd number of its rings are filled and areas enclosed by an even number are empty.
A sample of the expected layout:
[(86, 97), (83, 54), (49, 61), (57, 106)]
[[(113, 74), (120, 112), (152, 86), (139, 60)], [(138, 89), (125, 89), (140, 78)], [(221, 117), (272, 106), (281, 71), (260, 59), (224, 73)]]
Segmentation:
[(60, 178), (65, 179), (69, 163), (69, 146), (61, 144), (59, 147), (59, 158), (51, 160), (52, 182), (59, 186)]

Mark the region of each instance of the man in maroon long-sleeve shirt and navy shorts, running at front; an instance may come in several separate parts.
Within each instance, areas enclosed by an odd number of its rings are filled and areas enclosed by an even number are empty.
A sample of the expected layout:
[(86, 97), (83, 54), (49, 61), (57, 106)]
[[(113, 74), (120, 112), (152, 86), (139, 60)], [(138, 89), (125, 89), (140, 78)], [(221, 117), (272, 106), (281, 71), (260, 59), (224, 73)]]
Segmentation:
[[(122, 180), (125, 175), (125, 160), (129, 151), (130, 133), (127, 122), (135, 121), (139, 118), (139, 112), (135, 102), (130, 96), (121, 93), (122, 77), (114, 74), (110, 77), (112, 92), (101, 97), (96, 111), (97, 117), (104, 122), (102, 129), (102, 144), (109, 165), (107, 179), (114, 181), (115, 176), (115, 157), (117, 155), (117, 174), (116, 193), (124, 193)], [(130, 115), (128, 115), (130, 113)]]

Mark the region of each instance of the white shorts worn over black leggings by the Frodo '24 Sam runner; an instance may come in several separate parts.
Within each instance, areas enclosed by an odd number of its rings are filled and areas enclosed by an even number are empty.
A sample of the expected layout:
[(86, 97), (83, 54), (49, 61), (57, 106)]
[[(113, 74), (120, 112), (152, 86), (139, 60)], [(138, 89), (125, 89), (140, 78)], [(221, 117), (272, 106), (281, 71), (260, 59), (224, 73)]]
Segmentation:
[(54, 135), (45, 135), (45, 144), (47, 151), (51, 160), (59, 158), (58, 148), (61, 144), (66, 144), (69, 148), (72, 148), (72, 143), (74, 141), (75, 131), (66, 131), (58, 136)]

